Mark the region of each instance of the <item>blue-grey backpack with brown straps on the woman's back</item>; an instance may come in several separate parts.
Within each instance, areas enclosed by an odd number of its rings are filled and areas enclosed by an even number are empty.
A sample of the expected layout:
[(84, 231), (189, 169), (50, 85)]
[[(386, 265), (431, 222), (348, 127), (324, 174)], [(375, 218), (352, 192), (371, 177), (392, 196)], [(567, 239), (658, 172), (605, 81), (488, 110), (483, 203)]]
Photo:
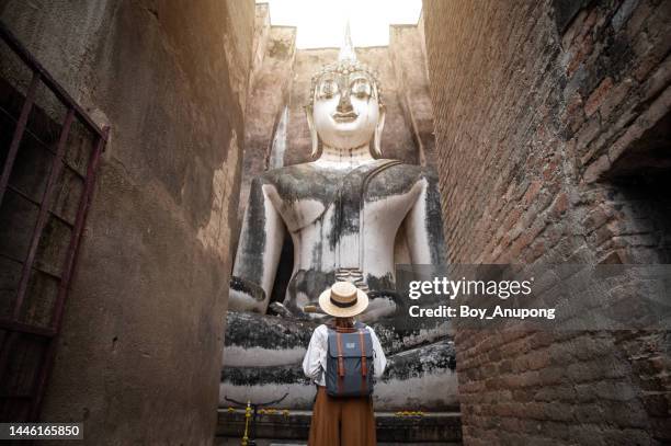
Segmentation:
[(361, 322), (353, 329), (329, 329), (326, 387), (330, 397), (373, 393), (373, 339)]

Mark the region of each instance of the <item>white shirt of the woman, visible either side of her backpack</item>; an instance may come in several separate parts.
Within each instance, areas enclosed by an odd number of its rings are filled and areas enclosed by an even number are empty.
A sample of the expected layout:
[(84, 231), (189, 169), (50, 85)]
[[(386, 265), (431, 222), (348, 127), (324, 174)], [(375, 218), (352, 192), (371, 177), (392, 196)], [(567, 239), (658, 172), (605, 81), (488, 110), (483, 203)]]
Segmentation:
[[(385, 352), (382, 350), (379, 340), (372, 328), (366, 327), (371, 333), (371, 340), (373, 341), (373, 367), (375, 377), (379, 378), (387, 367), (387, 358)], [(310, 344), (303, 358), (303, 371), (305, 376), (312, 379), (315, 384), (319, 386), (326, 386), (326, 378), (323, 371), (326, 371), (327, 352), (329, 342), (329, 329), (327, 325), (321, 324), (315, 329), (312, 338), (310, 338)]]

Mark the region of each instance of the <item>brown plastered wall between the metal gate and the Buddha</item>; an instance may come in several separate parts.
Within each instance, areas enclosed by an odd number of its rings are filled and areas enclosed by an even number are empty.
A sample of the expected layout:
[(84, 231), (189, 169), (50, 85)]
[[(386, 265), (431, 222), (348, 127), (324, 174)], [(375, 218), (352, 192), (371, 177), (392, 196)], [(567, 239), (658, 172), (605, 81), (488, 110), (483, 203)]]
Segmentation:
[(43, 419), (91, 445), (211, 444), (253, 1), (0, 1), (112, 129)]

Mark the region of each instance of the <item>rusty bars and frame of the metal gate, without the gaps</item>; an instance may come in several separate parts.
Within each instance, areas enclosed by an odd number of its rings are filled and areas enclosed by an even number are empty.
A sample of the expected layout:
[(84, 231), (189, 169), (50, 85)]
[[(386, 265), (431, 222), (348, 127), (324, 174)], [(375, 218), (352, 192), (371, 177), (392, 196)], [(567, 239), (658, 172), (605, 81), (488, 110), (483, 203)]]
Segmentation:
[[(95, 182), (95, 173), (100, 163), (100, 157), (105, 148), (109, 138), (109, 127), (101, 128), (93, 119), (86, 113), (86, 111), (66, 92), (66, 90), (49, 75), (49, 72), (31, 55), (31, 53), (16, 39), (16, 37), (9, 31), (9, 28), (0, 22), (0, 41), (4, 44), (23, 61), (23, 64), (32, 71), (32, 80), (29, 85), (25, 99), (16, 121), (14, 133), (11, 139), (11, 144), (8, 149), (8, 156), (2, 167), (2, 173), (0, 174), (0, 205), (3, 202), (7, 190), (18, 193), (23, 196), (24, 199), (37, 205), (39, 210), (37, 214), (37, 222), (33, 229), (32, 239), (29, 248), (26, 259), (12, 259), (13, 261), (22, 263), (21, 278), (19, 281), (16, 299), (13, 302), (12, 318), (10, 320), (0, 319), (0, 330), (5, 331), (5, 336), (0, 345), (0, 375), (2, 375), (7, 368), (10, 352), (13, 350), (14, 344), (19, 340), (20, 335), (32, 335), (43, 339), (46, 343), (45, 351), (42, 355), (42, 362), (39, 364), (35, 382), (30, 394), (11, 394), (1, 396), (0, 398), (9, 399), (30, 399), (30, 413), (29, 420), (36, 421), (39, 416), (39, 410), (42, 401), (44, 399), (44, 391), (48, 381), (49, 374), (54, 365), (54, 358), (56, 355), (57, 339), (60, 332), (62, 313), (65, 309), (70, 282), (77, 264), (77, 255), (79, 251), (79, 243), (86, 225), (88, 209), (91, 203), (93, 194), (93, 187)], [(26, 125), (35, 101), (35, 93), (37, 87), (44, 84), (56, 99), (66, 107), (66, 118), (61, 125), (60, 134), (58, 136), (58, 142), (55, 150), (55, 156), (52, 161), (49, 176), (47, 184), (42, 196), (41, 202), (33, 201), (32, 198), (24, 196), (19, 190), (12, 187), (9, 184), (9, 180), (14, 167), (14, 161), (19, 152), (23, 135), (26, 131)], [(71, 229), (70, 241), (66, 253), (66, 259), (61, 268), (60, 276), (54, 276), (53, 278), (58, 279), (58, 293), (56, 295), (56, 301), (52, 308), (52, 318), (48, 327), (34, 325), (25, 323), (21, 320), (22, 307), (26, 297), (29, 282), (31, 273), (33, 271), (39, 272), (34, 265), (37, 248), (39, 244), (41, 237), (44, 228), (48, 221), (49, 215), (61, 219), (55, 213), (49, 210), (52, 198), (54, 195), (54, 187), (58, 181), (58, 176), (65, 165), (65, 152), (67, 147), (68, 135), (72, 122), (77, 119), (83, 124), (93, 135), (95, 140), (93, 150), (89, 155), (89, 161), (87, 167), (87, 174), (83, 176), (83, 191), (78, 204), (77, 215), (75, 222), (69, 224), (64, 220)], [(29, 130), (30, 131), (30, 130)], [(71, 169), (71, 168), (70, 168)], [(79, 172), (75, 171), (78, 176), (82, 178)], [(16, 420), (23, 421), (23, 420)]]

